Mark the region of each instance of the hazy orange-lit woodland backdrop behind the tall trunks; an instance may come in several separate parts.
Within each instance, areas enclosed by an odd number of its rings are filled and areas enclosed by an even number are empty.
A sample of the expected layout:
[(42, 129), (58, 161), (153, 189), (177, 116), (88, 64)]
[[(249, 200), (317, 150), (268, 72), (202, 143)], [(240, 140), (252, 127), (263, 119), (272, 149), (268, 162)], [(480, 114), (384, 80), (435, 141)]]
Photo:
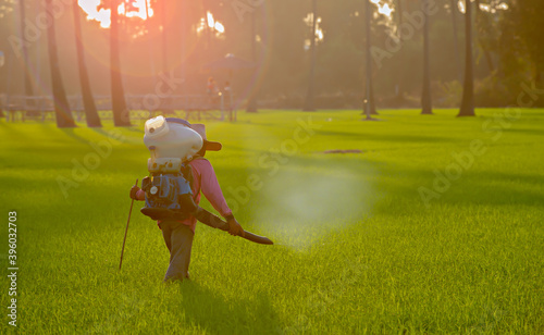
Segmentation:
[[(46, 17), (53, 16), (66, 95), (81, 91), (81, 40), (92, 92), (109, 96), (113, 8), (119, 13), (119, 71), (127, 95), (154, 91), (159, 73), (165, 72), (184, 80), (174, 95), (206, 94), (212, 76), (220, 89), (232, 85), (237, 97), (258, 97), (262, 108), (302, 108), (313, 71), (316, 108), (362, 108), (368, 24), (375, 106), (417, 108), (424, 64), (420, 14), (425, 2), (432, 9), (425, 62), (433, 106), (457, 107), (465, 73), (465, 0), (371, 0), (370, 21), (363, 0), (1, 0), (0, 94), (51, 95)], [(542, 87), (544, 1), (471, 3), (474, 104), (514, 104), (523, 80)], [(47, 5), (52, 15), (45, 15)], [(74, 14), (79, 16), (79, 34)], [(207, 66), (226, 54), (255, 66)]]

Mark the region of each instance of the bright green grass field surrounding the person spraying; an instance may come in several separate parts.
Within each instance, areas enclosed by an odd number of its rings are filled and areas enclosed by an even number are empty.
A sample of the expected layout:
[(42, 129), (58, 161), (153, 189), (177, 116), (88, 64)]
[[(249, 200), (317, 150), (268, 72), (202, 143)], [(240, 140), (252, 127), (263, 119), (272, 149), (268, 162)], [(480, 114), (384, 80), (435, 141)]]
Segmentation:
[[(0, 121), (1, 259), (17, 212), (22, 334), (543, 334), (544, 111), (261, 111), (208, 122), (261, 246), (199, 224), (191, 280), (135, 202), (143, 123)], [(135, 122), (136, 124), (136, 122)], [(112, 133), (114, 131), (114, 133)], [(360, 150), (359, 153), (324, 153)], [(202, 202), (208, 209), (209, 203)], [(8, 325), (10, 282), (0, 293)]]

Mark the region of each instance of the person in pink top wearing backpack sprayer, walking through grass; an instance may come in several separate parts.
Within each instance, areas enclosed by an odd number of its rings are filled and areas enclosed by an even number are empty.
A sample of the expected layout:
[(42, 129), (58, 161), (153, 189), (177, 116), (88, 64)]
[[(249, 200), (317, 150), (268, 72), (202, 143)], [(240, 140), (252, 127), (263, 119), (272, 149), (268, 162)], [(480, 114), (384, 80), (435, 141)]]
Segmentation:
[[(267, 237), (245, 232), (228, 208), (215, 172), (205, 158), (207, 151), (220, 151), (222, 145), (209, 141), (203, 124), (190, 124), (176, 117), (157, 116), (145, 125), (144, 142), (150, 151), (149, 176), (141, 188), (133, 186), (131, 198), (146, 201), (141, 213), (158, 221), (170, 251), (164, 281), (189, 277), (190, 250), (197, 220), (259, 244), (273, 244)], [(200, 208), (200, 193), (224, 218)]]

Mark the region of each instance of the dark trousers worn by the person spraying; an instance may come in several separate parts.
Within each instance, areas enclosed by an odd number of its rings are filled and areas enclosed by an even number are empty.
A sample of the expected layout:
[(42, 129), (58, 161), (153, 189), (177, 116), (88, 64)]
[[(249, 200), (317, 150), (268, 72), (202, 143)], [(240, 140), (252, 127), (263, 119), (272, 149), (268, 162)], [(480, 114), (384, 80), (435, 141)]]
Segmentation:
[(183, 281), (188, 277), (190, 249), (195, 233), (177, 221), (161, 222), (162, 237), (170, 251), (170, 265), (164, 282)]

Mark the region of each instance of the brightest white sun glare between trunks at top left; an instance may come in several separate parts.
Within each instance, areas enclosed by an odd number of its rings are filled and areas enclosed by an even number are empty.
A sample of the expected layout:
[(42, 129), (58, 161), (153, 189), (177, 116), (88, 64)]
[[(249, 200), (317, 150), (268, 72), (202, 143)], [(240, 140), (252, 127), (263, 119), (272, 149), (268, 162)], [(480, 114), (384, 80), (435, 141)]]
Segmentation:
[[(146, 9), (147, 1), (147, 9)], [(87, 13), (87, 20), (95, 20), (100, 23), (100, 27), (109, 28), (111, 24), (111, 10), (99, 9), (100, 0), (78, 0), (79, 7)], [(118, 13), (126, 17), (140, 17), (147, 20), (153, 16), (153, 9), (150, 0), (123, 1), (118, 8)]]

